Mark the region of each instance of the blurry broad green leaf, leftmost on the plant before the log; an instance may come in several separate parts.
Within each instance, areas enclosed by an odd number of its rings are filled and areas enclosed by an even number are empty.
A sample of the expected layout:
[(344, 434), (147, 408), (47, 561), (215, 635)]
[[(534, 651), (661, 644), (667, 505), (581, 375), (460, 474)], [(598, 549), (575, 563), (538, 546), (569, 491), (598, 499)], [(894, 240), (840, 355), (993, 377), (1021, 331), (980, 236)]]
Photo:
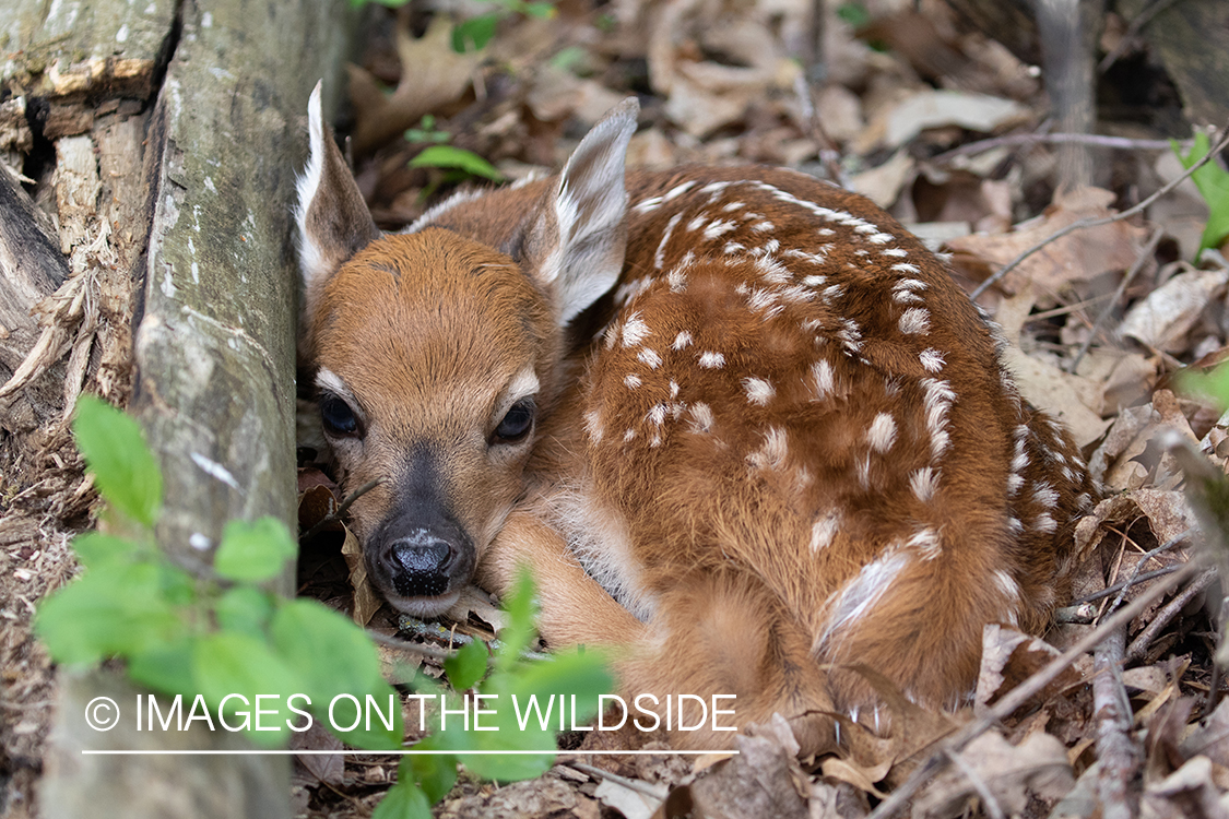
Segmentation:
[(161, 566), (91, 569), (43, 600), (34, 620), (55, 662), (95, 663), (168, 642), (184, 627), (163, 596)]

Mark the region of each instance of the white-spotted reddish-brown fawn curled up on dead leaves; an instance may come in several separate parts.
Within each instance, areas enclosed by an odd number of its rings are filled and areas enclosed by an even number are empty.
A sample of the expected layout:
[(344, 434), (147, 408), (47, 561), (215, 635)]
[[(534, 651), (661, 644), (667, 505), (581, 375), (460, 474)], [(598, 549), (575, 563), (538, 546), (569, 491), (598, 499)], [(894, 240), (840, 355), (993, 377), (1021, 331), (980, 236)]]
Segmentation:
[(957, 706), (983, 625), (1064, 594), (1078, 448), (887, 214), (785, 169), (624, 173), (638, 111), (382, 236), (312, 96), (300, 363), (343, 486), (385, 479), (351, 507), (369, 577), (434, 615), (527, 564), (548, 642), (627, 646), (624, 691), (732, 694), (739, 726), (878, 722), (850, 663)]

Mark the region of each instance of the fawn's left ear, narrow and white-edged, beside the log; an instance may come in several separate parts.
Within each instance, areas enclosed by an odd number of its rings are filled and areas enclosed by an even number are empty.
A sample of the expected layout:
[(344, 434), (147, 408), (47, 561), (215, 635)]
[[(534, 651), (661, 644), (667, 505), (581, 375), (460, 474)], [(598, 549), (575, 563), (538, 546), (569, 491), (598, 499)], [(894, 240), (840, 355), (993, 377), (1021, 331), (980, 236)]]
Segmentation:
[(320, 87), (307, 103), (311, 156), (299, 177), (299, 266), (304, 276), (304, 316), (311, 316), (328, 278), (347, 259), (380, 238), (333, 135), (324, 128)]

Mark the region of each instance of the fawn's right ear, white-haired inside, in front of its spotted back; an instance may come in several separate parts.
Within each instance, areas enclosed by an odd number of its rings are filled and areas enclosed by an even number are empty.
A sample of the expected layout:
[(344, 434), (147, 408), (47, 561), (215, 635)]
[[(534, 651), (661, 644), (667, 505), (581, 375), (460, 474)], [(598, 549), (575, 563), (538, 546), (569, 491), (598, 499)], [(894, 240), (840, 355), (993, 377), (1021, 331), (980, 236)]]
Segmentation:
[(623, 161), (639, 112), (635, 97), (628, 97), (594, 125), (528, 230), (526, 260), (554, 289), (560, 325), (613, 287), (623, 269)]

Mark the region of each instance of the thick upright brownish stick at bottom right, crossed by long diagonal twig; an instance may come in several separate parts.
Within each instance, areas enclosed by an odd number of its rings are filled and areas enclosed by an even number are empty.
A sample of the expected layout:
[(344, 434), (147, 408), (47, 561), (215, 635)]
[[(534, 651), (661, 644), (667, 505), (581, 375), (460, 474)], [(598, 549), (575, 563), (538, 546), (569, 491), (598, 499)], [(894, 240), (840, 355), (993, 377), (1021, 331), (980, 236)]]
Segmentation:
[(1096, 791), (1104, 819), (1132, 819), (1138, 793), (1139, 749), (1131, 739), (1131, 701), (1122, 684), (1127, 624), (1115, 629), (1093, 654), (1093, 715), (1096, 721)]

